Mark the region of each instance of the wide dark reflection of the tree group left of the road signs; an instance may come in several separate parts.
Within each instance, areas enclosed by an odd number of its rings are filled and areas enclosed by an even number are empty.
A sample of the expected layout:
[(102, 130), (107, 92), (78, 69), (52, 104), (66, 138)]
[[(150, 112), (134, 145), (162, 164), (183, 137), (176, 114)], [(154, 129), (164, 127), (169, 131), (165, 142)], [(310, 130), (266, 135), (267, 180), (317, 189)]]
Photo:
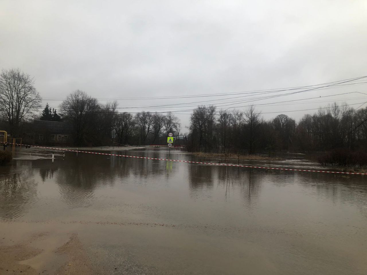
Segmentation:
[[(121, 152), (113, 152), (121, 154)], [(154, 156), (154, 157), (158, 157)], [(91, 205), (94, 190), (101, 186), (113, 186), (131, 182), (145, 184), (160, 175), (158, 161), (150, 159), (123, 158), (114, 156), (92, 155), (80, 153), (66, 155), (59, 161), (56, 183), (62, 198), (72, 207)], [(44, 174), (51, 172), (44, 172)]]

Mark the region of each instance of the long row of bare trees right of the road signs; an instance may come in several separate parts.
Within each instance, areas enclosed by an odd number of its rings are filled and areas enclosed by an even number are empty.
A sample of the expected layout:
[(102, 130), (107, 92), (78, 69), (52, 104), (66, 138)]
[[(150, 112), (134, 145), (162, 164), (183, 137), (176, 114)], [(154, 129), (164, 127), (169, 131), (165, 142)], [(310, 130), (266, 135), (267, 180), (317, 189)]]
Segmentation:
[(279, 114), (265, 120), (254, 106), (246, 110), (217, 110), (198, 106), (190, 117), (190, 151), (231, 151), (254, 154), (271, 151), (365, 150), (367, 109), (333, 103), (296, 121)]

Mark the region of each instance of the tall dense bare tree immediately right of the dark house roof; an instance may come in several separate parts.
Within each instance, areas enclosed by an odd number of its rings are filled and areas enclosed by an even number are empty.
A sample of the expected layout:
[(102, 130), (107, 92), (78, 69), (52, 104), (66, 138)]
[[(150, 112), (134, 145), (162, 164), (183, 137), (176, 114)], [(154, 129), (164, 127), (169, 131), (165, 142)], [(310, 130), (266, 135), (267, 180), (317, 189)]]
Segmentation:
[(75, 145), (92, 142), (97, 112), (101, 112), (97, 99), (88, 96), (86, 92), (76, 90), (61, 103), (60, 109), (63, 118), (70, 121), (74, 127)]

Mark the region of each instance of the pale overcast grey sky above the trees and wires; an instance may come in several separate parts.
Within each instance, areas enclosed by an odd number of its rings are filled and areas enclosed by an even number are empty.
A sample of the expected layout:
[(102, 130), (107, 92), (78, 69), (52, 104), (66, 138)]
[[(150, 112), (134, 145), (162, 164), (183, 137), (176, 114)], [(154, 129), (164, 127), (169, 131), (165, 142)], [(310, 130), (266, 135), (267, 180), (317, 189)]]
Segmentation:
[[(0, 68), (19, 67), (34, 76), (37, 90), (47, 98), (44, 103), (51, 106), (60, 103), (51, 98), (65, 98), (75, 89), (96, 98), (198, 95), (367, 75), (366, 0), (0, 0), (0, 37)], [(310, 91), (254, 104), (367, 93), (366, 87)], [(226, 97), (119, 100), (119, 106)], [(348, 94), (323, 101), (354, 104), (366, 98)], [(314, 101), (257, 109), (267, 113), (327, 104)], [(299, 119), (304, 113), (286, 114)], [(188, 124), (189, 115), (178, 116)]]

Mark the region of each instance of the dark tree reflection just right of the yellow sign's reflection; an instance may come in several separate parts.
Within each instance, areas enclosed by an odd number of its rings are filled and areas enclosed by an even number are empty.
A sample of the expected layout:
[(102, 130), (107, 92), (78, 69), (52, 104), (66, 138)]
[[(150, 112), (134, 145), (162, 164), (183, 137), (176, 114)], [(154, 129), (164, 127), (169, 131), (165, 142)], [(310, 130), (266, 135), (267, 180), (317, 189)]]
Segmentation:
[(212, 173), (215, 169), (210, 165), (189, 165), (188, 167), (190, 197), (207, 196), (207, 190), (212, 189), (214, 185)]

